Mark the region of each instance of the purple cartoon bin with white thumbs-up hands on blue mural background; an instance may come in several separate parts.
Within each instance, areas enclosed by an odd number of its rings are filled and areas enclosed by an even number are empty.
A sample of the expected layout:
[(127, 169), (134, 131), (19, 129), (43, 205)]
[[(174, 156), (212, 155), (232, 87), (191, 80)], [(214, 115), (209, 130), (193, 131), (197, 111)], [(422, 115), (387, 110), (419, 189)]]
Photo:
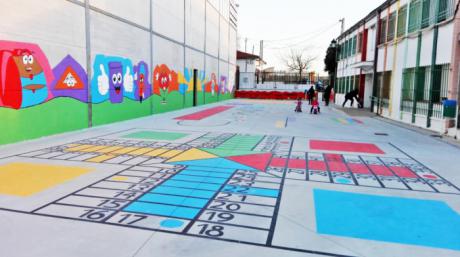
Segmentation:
[(93, 103), (106, 100), (115, 104), (122, 103), (125, 96), (136, 100), (132, 70), (133, 65), (129, 59), (97, 55), (91, 88)]

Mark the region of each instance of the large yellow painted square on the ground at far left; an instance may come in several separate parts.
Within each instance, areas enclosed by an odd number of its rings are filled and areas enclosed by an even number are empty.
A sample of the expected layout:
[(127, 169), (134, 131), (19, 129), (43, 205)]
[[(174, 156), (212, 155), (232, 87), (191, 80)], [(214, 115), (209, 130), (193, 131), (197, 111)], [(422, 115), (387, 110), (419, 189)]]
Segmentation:
[(0, 194), (32, 196), (90, 171), (87, 168), (36, 163), (0, 165)]

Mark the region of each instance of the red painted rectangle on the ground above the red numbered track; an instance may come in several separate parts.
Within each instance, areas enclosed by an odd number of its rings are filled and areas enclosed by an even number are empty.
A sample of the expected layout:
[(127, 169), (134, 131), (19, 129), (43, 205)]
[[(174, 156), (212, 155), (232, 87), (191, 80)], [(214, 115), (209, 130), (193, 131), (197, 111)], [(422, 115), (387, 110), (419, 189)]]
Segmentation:
[(378, 146), (367, 143), (311, 140), (310, 149), (368, 154), (385, 154)]

